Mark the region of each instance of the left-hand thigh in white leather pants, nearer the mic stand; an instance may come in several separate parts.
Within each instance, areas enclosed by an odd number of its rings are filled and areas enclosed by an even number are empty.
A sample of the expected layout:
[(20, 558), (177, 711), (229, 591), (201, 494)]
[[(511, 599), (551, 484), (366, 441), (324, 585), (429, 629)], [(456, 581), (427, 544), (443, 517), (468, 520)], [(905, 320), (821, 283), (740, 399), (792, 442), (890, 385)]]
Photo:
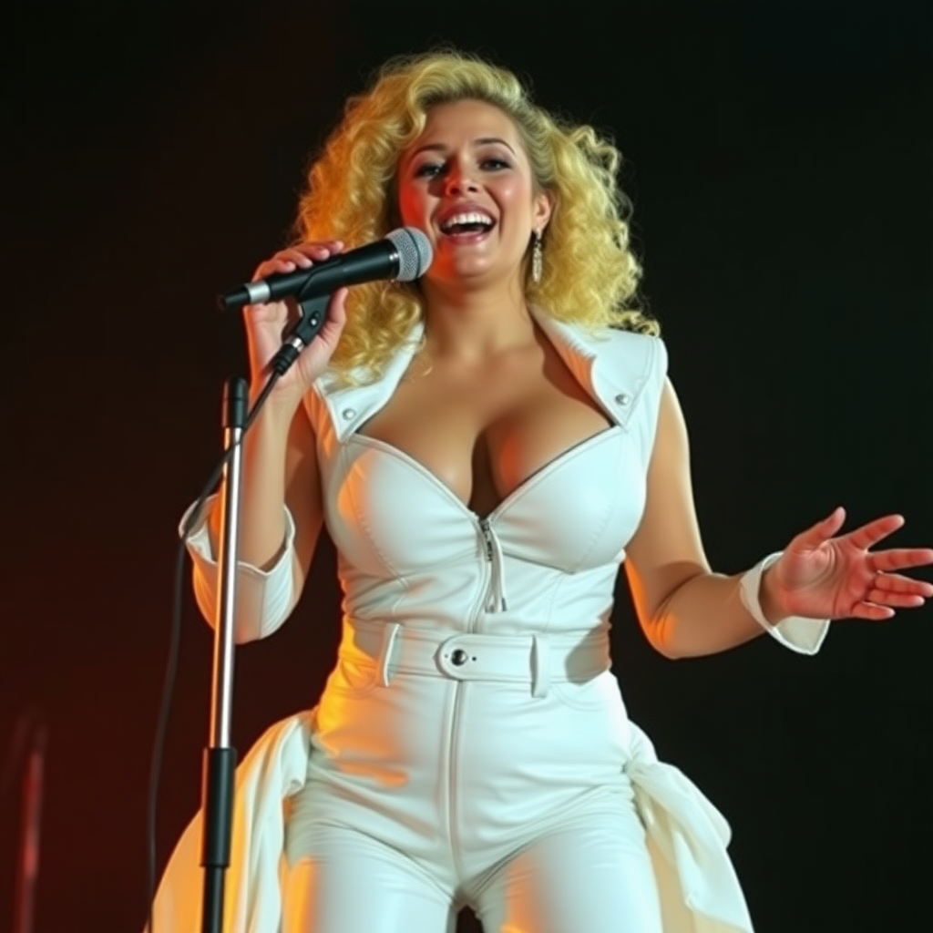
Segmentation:
[(286, 870), (282, 933), (453, 933), (452, 898), (411, 858), (323, 827)]

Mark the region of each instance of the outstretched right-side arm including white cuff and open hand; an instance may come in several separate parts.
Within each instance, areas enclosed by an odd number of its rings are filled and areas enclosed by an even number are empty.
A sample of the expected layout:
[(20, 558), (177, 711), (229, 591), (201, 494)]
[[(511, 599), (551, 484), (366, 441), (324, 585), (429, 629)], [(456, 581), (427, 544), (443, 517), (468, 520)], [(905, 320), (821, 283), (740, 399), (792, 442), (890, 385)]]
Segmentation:
[[(890, 619), (923, 606), (933, 584), (901, 573), (933, 564), (929, 548), (871, 550), (904, 520), (885, 515), (838, 534), (845, 510), (794, 536), (755, 573), (713, 573), (703, 553), (689, 476), (687, 429), (674, 388), (665, 383), (648, 502), (630, 542), (626, 570), (638, 618), (651, 644), (670, 658), (714, 654), (768, 631), (788, 648), (812, 654), (833, 619)], [(754, 587), (758, 585), (758, 592)], [(746, 603), (760, 610), (757, 621)]]

